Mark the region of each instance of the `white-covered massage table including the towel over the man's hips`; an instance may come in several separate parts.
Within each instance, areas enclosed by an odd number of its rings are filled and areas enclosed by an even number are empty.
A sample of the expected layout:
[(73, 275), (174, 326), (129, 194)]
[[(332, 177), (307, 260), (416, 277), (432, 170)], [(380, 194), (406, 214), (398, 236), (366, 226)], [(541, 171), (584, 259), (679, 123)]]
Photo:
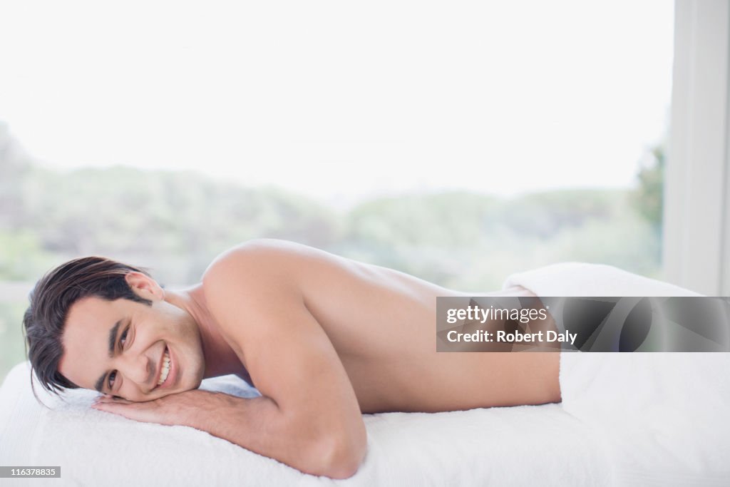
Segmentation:
[[(508, 277), (538, 296), (698, 296), (611, 266)], [(434, 326), (435, 332), (435, 326)], [(560, 404), (364, 414), (356, 475), (332, 480), (185, 426), (91, 409), (94, 391), (36, 387), (28, 363), (0, 388), (0, 466), (60, 479), (0, 486), (730, 486), (730, 353), (561, 353)], [(201, 388), (258, 396), (235, 376)]]

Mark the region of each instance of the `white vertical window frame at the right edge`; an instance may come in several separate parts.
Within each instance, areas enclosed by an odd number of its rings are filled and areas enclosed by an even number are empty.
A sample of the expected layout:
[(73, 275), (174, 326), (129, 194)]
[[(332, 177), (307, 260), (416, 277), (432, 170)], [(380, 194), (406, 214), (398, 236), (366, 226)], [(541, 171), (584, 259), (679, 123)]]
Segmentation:
[(675, 0), (664, 279), (730, 296), (730, 3)]

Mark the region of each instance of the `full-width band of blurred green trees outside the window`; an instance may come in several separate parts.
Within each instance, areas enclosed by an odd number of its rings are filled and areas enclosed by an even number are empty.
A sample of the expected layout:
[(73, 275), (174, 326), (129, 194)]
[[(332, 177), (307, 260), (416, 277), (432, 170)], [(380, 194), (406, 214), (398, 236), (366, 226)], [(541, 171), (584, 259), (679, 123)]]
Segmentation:
[[(218, 253), (256, 237), (289, 239), (392, 267), (447, 288), (501, 288), (512, 272), (601, 262), (658, 277), (664, 153), (639, 188), (562, 190), (499, 199), (450, 191), (380, 197), (338, 212), (277, 188), (195, 172), (129, 167), (53, 172), (0, 124), (0, 283), (33, 283), (69, 258), (145, 266), (166, 285), (199, 281)], [(23, 358), (25, 299), (0, 307), (0, 350)], [(0, 369), (4, 377), (7, 369)]]

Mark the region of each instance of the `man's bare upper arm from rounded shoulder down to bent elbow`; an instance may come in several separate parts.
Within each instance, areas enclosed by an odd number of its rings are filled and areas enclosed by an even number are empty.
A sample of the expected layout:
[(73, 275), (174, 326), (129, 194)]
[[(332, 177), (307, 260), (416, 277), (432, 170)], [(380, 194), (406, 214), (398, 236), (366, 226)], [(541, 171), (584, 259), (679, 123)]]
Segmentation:
[[(233, 398), (226, 432), (210, 432), (303, 472), (347, 478), (364, 457), (366, 429), (345, 367), (304, 302), (311, 270), (304, 256), (261, 244), (207, 270), (209, 310), (263, 395)], [(255, 401), (255, 413), (239, 409), (242, 400)]]

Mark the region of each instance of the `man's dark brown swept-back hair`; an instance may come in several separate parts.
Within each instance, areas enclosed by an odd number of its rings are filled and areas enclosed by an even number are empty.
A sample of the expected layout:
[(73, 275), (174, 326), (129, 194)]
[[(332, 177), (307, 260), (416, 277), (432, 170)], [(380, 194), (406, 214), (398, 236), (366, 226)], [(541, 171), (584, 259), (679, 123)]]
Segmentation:
[(152, 305), (134, 294), (125, 280), (129, 272), (150, 274), (140, 267), (105, 257), (81, 257), (61, 264), (41, 277), (28, 295), (30, 306), (23, 316), (28, 360), (32, 374), (47, 391), (58, 394), (64, 388), (79, 388), (58, 372), (64, 354), (61, 336), (72, 304), (88, 296), (107, 301), (129, 299)]

